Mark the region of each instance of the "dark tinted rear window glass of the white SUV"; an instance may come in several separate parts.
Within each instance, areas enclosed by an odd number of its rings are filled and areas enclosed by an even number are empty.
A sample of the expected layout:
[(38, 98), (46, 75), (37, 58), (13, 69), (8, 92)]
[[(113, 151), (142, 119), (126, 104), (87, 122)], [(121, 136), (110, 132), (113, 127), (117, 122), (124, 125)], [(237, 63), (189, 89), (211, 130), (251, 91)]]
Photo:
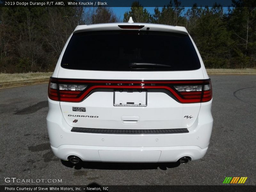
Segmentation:
[(120, 30), (72, 35), (61, 67), (101, 71), (176, 71), (201, 67), (188, 35)]

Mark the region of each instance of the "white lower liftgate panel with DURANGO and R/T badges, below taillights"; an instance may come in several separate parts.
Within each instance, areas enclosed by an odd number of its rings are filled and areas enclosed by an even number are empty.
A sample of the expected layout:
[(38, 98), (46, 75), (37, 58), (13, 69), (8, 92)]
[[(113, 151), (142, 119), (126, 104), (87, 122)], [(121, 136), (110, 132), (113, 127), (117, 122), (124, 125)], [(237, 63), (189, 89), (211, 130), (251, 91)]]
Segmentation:
[[(94, 92), (82, 102), (60, 102), (61, 111), (72, 127), (104, 129), (178, 129), (188, 128), (195, 121), (201, 103), (182, 104), (162, 92), (148, 92), (147, 107), (113, 106), (113, 92)], [(72, 107), (85, 107), (86, 112), (72, 111)], [(68, 116), (72, 114), (72, 116)], [(74, 116), (73, 116), (74, 115)], [(88, 117), (77, 117), (84, 115)], [(193, 118), (184, 118), (184, 116)], [(98, 118), (90, 117), (98, 116)], [(138, 116), (131, 125), (123, 116)], [(73, 121), (78, 121), (74, 123)], [(133, 120), (133, 119), (130, 119)]]

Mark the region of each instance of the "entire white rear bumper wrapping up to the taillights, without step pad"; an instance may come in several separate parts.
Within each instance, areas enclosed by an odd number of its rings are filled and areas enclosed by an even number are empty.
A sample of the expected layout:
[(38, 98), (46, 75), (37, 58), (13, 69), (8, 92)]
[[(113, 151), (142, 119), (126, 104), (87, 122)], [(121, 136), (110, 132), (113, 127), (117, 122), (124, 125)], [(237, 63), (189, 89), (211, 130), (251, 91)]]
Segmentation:
[(83, 161), (176, 162), (183, 156), (202, 158), (212, 133), (211, 101), (202, 103), (189, 132), (175, 134), (104, 134), (71, 132), (58, 101), (49, 100), (47, 128), (52, 151), (60, 159)]

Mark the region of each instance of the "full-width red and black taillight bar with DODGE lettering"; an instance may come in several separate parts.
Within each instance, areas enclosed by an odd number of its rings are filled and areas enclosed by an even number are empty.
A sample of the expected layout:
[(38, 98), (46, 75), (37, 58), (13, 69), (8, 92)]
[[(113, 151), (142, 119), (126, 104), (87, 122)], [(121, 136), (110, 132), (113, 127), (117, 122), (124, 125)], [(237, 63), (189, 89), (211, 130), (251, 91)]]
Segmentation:
[(49, 82), (48, 96), (51, 100), (81, 102), (95, 89), (165, 89), (180, 103), (207, 102), (212, 99), (212, 86), (207, 80), (184, 81), (124, 81), (58, 79)]

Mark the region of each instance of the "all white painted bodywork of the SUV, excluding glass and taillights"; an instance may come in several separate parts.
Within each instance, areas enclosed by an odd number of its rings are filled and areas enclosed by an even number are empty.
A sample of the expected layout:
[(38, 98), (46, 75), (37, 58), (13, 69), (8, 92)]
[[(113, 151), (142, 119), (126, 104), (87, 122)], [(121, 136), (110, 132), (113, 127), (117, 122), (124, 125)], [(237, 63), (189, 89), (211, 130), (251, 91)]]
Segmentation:
[[(122, 30), (117, 25), (118, 23), (77, 26), (74, 33)], [(132, 23), (132, 25), (145, 25), (141, 30), (150, 27), (151, 30), (157, 31), (188, 33), (184, 27), (145, 23)], [(209, 78), (194, 42), (201, 62), (200, 69), (140, 72), (62, 68), (60, 62), (67, 44), (60, 55), (52, 77), (109, 80), (196, 80)], [(183, 156), (197, 160), (206, 153), (212, 132), (212, 100), (205, 103), (182, 104), (163, 92), (148, 92), (147, 107), (116, 107), (113, 106), (113, 94), (113, 92), (94, 92), (81, 102), (59, 102), (48, 99), (47, 128), (51, 148), (57, 157), (66, 160), (68, 156), (75, 155), (83, 161), (104, 162), (176, 162)], [(86, 112), (72, 111), (72, 107), (85, 107)], [(70, 114), (72, 116), (69, 116)], [(79, 117), (81, 115), (89, 117)], [(193, 116), (193, 118), (186, 119), (184, 116)], [(74, 123), (74, 119), (78, 121)], [(99, 134), (71, 132), (72, 127), (98, 129), (188, 128), (189, 132), (176, 134)]]

